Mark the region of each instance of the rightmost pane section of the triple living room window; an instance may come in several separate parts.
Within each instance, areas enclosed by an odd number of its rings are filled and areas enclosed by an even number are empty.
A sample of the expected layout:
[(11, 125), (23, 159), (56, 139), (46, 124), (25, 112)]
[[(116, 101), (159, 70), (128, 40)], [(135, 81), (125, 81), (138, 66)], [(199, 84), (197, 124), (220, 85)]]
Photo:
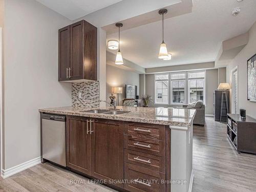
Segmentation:
[(205, 102), (205, 72), (188, 72), (188, 103)]

